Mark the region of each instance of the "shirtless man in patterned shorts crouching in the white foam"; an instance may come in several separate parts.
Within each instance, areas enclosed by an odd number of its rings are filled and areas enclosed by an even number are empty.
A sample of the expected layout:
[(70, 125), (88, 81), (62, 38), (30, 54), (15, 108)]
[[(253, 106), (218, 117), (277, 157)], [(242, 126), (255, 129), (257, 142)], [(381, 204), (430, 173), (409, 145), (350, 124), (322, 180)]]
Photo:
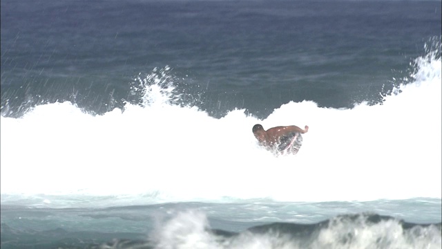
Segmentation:
[(260, 145), (279, 154), (296, 154), (302, 145), (301, 133), (309, 131), (306, 125), (301, 129), (296, 125), (273, 127), (265, 131), (261, 124), (253, 126), (253, 135)]

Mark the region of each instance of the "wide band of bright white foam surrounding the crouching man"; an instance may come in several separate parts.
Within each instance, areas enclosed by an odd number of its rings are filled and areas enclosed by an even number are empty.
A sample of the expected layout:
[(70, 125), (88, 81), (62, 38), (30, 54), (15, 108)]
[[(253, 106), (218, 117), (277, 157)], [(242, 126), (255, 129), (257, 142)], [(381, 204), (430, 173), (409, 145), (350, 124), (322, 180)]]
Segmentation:
[[(160, 104), (149, 98), (102, 116), (64, 102), (1, 117), (2, 202), (6, 194), (145, 196), (153, 203), (440, 199), (441, 59), (417, 63), (401, 93), (354, 109), (290, 102), (265, 120), (244, 110), (216, 119), (164, 101), (169, 89)], [(310, 129), (296, 156), (277, 158), (256, 145), (256, 123)]]

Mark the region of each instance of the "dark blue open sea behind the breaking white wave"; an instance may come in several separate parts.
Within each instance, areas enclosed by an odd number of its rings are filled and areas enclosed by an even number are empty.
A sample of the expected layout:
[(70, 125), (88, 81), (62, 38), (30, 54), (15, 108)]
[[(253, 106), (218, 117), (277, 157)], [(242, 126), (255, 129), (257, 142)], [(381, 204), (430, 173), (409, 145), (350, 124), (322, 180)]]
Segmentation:
[[(1, 1), (1, 108), (104, 113), (169, 65), (212, 116), (379, 102), (441, 35), (439, 1)], [(393, 82), (392, 82), (393, 81)], [(383, 87), (384, 86), (384, 87)], [(184, 90), (185, 88), (185, 90)], [(185, 101), (185, 100), (184, 100)]]

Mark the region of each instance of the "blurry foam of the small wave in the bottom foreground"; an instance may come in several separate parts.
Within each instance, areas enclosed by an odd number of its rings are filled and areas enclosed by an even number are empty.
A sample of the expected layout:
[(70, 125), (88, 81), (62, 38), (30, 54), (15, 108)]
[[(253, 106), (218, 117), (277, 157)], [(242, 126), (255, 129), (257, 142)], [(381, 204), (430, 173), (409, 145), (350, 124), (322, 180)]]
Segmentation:
[(151, 234), (155, 248), (440, 248), (441, 232), (435, 226), (416, 226), (403, 230), (396, 220), (367, 223), (364, 216), (355, 220), (332, 219), (317, 232), (293, 237), (287, 230), (242, 232), (231, 238), (218, 237), (209, 232), (206, 216), (188, 211), (159, 225)]

